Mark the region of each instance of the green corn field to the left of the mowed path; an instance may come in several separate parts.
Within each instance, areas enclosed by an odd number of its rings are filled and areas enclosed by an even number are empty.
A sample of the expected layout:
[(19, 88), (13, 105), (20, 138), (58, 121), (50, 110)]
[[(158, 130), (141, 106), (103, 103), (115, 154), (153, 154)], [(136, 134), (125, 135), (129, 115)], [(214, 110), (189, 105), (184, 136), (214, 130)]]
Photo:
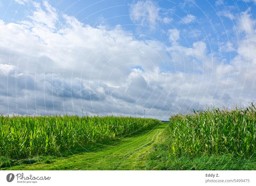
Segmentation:
[(156, 119), (79, 116), (0, 116), (0, 155), (26, 158), (104, 142), (159, 124)]

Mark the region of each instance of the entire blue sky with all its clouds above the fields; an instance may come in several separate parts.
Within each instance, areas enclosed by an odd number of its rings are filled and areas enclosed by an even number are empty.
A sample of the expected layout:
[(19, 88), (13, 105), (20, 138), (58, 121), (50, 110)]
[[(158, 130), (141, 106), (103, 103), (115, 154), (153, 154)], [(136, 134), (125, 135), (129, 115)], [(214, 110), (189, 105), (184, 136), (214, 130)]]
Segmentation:
[(4, 114), (166, 120), (255, 100), (255, 0), (0, 0)]

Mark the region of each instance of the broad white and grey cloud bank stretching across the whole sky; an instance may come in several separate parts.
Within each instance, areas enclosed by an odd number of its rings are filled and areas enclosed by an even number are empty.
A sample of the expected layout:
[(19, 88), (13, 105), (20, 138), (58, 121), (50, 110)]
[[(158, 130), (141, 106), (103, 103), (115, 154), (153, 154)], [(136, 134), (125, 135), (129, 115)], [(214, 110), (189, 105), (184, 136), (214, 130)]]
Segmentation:
[(168, 119), (181, 108), (196, 108), (198, 102), (219, 103), (224, 89), (224, 103), (246, 103), (256, 64), (255, 29), (248, 12), (236, 18), (239, 48), (233, 40), (226, 47), (239, 50), (240, 56), (228, 63), (220, 61), (205, 40), (188, 46), (177, 43), (178, 29), (169, 30), (171, 43), (164, 46), (136, 39), (120, 26), (84, 25), (46, 2), (34, 6), (36, 11), (22, 23), (0, 21), (1, 110), (16, 112), (17, 80), (22, 114), (26, 108), (29, 114), (79, 114), (83, 107), (90, 114), (128, 115), (138, 110), (143, 116), (146, 110), (150, 117)]

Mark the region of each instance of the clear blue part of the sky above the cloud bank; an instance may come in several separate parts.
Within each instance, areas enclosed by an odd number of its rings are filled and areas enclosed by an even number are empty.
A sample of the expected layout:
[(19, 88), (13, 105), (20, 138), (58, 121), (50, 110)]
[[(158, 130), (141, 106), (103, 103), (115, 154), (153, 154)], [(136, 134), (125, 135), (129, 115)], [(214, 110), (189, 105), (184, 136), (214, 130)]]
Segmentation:
[[(26, 12), (32, 12), (34, 7), (29, 5), (29, 1), (26, 4), (20, 4), (19, 1), (12, 0), (11, 2), (1, 1), (0, 7), (0, 17), (4, 22), (15, 22), (27, 19)], [(20, 0), (20, 2), (22, 2)], [(40, 1), (39, 1), (40, 2)], [(168, 37), (163, 34), (161, 31), (154, 31), (155, 28), (148, 30), (134, 24), (130, 19), (130, 9), (131, 4), (136, 4), (138, 1), (69, 1), (69, 0), (58, 0), (58, 1), (48, 1), (52, 7), (58, 9), (59, 12), (64, 12), (70, 16), (75, 16), (79, 21), (84, 24), (90, 24), (92, 26), (98, 26), (100, 24), (108, 25), (108, 27), (116, 27), (116, 25), (123, 25), (122, 27), (126, 30), (131, 30), (133, 34), (147, 34), (151, 37), (154, 37), (161, 41), (168, 40)], [(212, 19), (212, 22), (215, 24), (216, 29), (219, 33), (226, 32), (227, 29), (234, 27), (234, 22), (228, 18), (228, 13), (231, 16), (236, 15), (239, 12), (244, 12), (250, 8), (250, 13), (252, 18), (255, 18), (255, 15), (252, 12), (255, 11), (255, 2), (248, 1), (244, 2), (242, 0), (238, 1), (152, 1), (145, 3), (146, 1), (139, 1), (143, 8), (148, 6), (156, 6), (159, 10), (159, 18), (156, 21), (156, 24), (149, 26), (157, 27), (167, 31), (168, 29), (178, 28), (183, 34), (186, 31), (191, 31), (193, 29), (205, 30), (206, 33), (212, 33), (213, 30), (209, 27), (208, 20)], [(224, 5), (223, 5), (223, 4)], [(31, 4), (31, 2), (30, 2)], [(145, 5), (144, 5), (145, 4)], [(185, 5), (186, 4), (186, 5)], [(184, 6), (184, 8), (182, 8)], [(236, 8), (237, 7), (237, 8)], [(169, 10), (167, 10), (169, 9)], [(195, 21), (192, 24), (189, 24), (189, 27), (186, 23), (180, 24), (181, 19), (188, 15), (188, 12), (191, 15), (196, 16), (196, 19), (200, 21), (201, 24), (197, 24)], [(224, 12), (227, 14), (223, 16)], [(170, 17), (172, 21), (169, 23), (161, 22), (161, 19), (164, 17)], [(103, 22), (103, 23), (102, 23)], [(140, 25), (140, 22), (137, 22)], [(234, 35), (230, 33), (228, 36)], [(204, 35), (202, 35), (203, 37)], [(201, 38), (201, 37), (199, 37)], [(195, 37), (186, 38), (188, 42), (196, 41)], [(223, 35), (222, 40), (227, 41), (227, 35)], [(184, 41), (183, 44), (186, 44)]]

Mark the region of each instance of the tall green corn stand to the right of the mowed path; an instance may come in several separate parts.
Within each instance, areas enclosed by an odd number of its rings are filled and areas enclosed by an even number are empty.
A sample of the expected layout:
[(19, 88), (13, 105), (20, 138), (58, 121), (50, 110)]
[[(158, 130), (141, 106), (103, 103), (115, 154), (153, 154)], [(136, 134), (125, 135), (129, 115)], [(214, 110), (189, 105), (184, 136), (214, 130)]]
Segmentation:
[(255, 156), (256, 111), (207, 109), (170, 118), (171, 151), (175, 155), (233, 154)]

